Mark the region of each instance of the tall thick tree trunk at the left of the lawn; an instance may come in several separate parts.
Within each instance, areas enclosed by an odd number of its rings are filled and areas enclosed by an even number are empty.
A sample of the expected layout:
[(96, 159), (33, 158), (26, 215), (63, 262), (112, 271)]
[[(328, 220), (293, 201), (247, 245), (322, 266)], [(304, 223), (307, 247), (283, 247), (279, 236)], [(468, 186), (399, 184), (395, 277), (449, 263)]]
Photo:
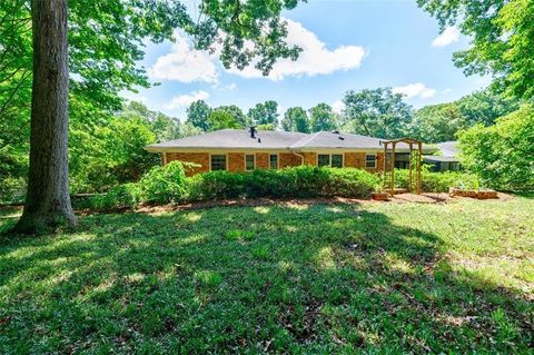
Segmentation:
[(30, 170), (24, 211), (14, 231), (75, 225), (69, 195), (67, 0), (32, 0), (33, 88)]

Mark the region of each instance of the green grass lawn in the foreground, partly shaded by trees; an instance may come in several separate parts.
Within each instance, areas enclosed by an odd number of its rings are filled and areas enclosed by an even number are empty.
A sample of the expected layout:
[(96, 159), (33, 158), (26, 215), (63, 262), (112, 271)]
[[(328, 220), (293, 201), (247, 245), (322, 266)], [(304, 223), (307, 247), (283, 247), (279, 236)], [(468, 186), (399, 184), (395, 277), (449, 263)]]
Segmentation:
[(0, 245), (0, 354), (532, 354), (533, 299), (523, 197), (92, 215)]

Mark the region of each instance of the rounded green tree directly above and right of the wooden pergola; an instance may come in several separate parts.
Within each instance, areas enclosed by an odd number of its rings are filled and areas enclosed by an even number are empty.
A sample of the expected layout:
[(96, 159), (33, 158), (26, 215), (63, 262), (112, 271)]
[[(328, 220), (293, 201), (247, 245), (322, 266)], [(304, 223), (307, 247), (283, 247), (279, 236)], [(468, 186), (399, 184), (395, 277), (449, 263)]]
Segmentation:
[(466, 118), (454, 102), (433, 105), (415, 111), (407, 136), (426, 142), (448, 141), (465, 127)]

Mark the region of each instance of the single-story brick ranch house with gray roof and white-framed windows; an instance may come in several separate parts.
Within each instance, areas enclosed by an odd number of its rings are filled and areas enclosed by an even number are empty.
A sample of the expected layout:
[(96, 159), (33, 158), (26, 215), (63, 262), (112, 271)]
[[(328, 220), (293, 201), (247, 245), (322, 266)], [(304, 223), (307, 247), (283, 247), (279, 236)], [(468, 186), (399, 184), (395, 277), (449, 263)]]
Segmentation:
[[(214, 170), (250, 171), (254, 169), (283, 169), (299, 165), (350, 167), (382, 171), (384, 146), (379, 138), (338, 131), (300, 134), (286, 131), (257, 131), (254, 128), (221, 129), (199, 136), (164, 141), (145, 148), (161, 155), (164, 165), (179, 160), (198, 167), (188, 176)], [(424, 152), (436, 149), (424, 146)], [(398, 155), (407, 154), (400, 144)]]

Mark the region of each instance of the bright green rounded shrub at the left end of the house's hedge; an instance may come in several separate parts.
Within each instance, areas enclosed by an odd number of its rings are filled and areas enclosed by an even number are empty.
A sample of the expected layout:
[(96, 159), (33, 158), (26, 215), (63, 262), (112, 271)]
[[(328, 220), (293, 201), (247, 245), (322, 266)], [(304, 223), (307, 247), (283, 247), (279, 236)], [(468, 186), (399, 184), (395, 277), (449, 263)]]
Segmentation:
[(188, 195), (188, 180), (180, 161), (151, 168), (138, 185), (140, 201), (147, 204), (179, 203)]

